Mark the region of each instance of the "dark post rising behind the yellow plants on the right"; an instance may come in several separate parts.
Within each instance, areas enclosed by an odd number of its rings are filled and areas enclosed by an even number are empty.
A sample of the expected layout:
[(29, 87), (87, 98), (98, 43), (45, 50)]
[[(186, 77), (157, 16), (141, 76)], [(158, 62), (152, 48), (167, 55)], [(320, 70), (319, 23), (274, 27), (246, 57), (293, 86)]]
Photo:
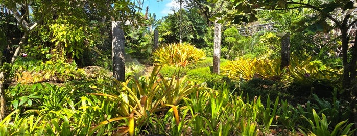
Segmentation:
[(289, 66), (290, 62), (290, 33), (281, 37), (281, 65), (280, 70)]

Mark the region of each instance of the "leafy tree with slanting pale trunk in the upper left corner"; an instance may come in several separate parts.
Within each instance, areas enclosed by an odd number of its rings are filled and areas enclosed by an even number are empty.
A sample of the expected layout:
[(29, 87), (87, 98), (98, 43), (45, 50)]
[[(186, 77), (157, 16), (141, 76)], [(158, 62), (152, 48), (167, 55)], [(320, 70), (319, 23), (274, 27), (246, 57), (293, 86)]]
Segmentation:
[[(109, 36), (103, 37), (108, 31), (99, 31), (107, 29), (108, 17), (132, 22), (134, 26), (139, 22), (132, 21), (136, 19), (135, 8), (138, 7), (130, 1), (1, 1), (0, 6), (2, 22), (9, 21), (2, 23), (2, 27), (12, 24), (11, 28), (4, 30), (19, 28), (21, 31), (18, 31), (19, 36), (10, 36), (15, 40), (7, 39), (12, 44), (9, 46), (16, 48), (11, 54), (10, 64), (15, 62), (23, 47), (26, 47), (26, 53), (43, 61), (81, 60), (84, 51), (90, 52), (94, 43), (105, 43), (108, 39)], [(16, 37), (18, 43), (14, 43)], [(1, 117), (4, 116), (6, 105), (3, 84), (10, 74), (9, 68), (3, 66), (1, 72), (4, 75), (0, 85)]]

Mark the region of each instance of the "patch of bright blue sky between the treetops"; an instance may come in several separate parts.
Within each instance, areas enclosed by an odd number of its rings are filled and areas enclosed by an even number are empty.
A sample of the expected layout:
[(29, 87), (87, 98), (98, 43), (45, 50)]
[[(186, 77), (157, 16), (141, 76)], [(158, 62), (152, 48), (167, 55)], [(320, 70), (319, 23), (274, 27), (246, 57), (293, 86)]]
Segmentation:
[(180, 5), (176, 3), (174, 0), (163, 0), (157, 2), (157, 0), (144, 0), (144, 7), (142, 9), (145, 12), (146, 6), (149, 6), (149, 13), (155, 13), (156, 19), (159, 20), (162, 17), (168, 15), (172, 12), (172, 8), (178, 9)]

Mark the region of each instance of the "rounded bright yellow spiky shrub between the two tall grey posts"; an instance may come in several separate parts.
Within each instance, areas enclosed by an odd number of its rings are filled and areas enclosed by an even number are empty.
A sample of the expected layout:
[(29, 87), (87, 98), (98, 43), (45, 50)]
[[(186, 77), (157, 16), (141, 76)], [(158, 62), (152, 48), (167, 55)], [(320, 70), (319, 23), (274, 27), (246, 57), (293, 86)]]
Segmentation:
[(156, 64), (167, 64), (185, 67), (187, 64), (197, 63), (205, 58), (202, 50), (191, 44), (169, 44), (153, 53)]

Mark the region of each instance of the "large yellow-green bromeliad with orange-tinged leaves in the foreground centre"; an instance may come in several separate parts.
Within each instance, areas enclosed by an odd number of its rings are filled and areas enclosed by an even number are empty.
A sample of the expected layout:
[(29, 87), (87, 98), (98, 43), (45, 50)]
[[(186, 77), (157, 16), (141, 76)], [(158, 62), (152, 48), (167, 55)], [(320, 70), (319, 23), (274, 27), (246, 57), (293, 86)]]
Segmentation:
[[(152, 124), (148, 118), (159, 112), (165, 112), (168, 108), (173, 109), (176, 125), (179, 126), (177, 105), (182, 99), (196, 91), (204, 91), (207, 88), (191, 82), (184, 82), (183, 78), (163, 78), (159, 75), (160, 65), (155, 66), (150, 77), (129, 77), (126, 82), (115, 81), (113, 87), (104, 86), (98, 93), (92, 93), (94, 99), (98, 99), (104, 105), (114, 106), (107, 112), (107, 120), (91, 128), (90, 134), (98, 128), (110, 122), (129, 122), (127, 126), (116, 128), (118, 134), (139, 133), (142, 127)], [(107, 88), (105, 88), (107, 87)], [(108, 90), (111, 93), (106, 93)], [(137, 130), (134, 132), (134, 130)]]

